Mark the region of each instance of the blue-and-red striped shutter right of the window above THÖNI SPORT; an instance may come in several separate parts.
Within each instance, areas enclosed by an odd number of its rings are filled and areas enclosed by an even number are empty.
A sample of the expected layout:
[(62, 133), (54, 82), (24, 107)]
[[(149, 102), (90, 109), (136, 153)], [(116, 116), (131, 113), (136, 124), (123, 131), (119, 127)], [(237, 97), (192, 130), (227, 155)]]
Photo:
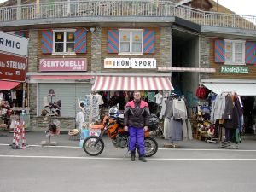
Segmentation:
[(144, 29), (143, 31), (143, 53), (152, 54), (155, 52), (155, 31)]

